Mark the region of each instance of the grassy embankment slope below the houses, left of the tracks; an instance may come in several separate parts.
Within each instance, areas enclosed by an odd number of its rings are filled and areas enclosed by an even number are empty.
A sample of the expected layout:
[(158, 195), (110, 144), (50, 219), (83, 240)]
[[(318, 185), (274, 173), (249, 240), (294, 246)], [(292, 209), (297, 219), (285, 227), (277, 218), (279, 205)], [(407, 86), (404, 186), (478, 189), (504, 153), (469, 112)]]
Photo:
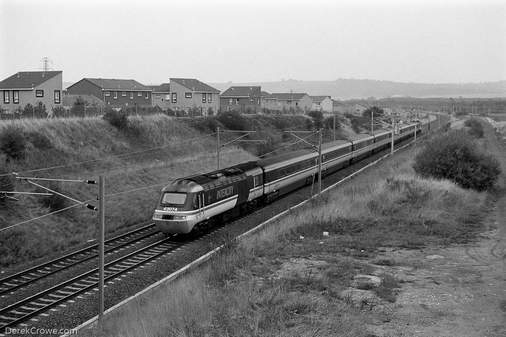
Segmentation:
[[(0, 132), (9, 124), (0, 124)], [(304, 116), (245, 117), (243, 124), (245, 129), (254, 130), (300, 125), (305, 130), (314, 128), (311, 120)], [(166, 116), (130, 117), (129, 127), (122, 130), (101, 118), (20, 120), (14, 125), (20, 127), (28, 139), (27, 155), (22, 161), (0, 168), (6, 172), (26, 172), (20, 176), (39, 178), (98, 180), (99, 174), (103, 174), (105, 194), (109, 196), (106, 198), (106, 233), (149, 223), (159, 191), (166, 182), (216, 169), (216, 136), (209, 134), (216, 132), (216, 126), (225, 128), (216, 117), (175, 119)], [(195, 139), (197, 137), (200, 138)], [(223, 135), (221, 143), (232, 137), (236, 135)], [(293, 140), (286, 139), (280, 132), (265, 132), (258, 137), (277, 141), (274, 149)], [(242, 148), (237, 144), (221, 148), (222, 167), (251, 160), (259, 151), (271, 149), (269, 146), (259, 148), (254, 143), (246, 143)], [(147, 149), (152, 150), (145, 151)], [(0, 163), (4, 165), (4, 155), (0, 155)], [(51, 167), (56, 168), (47, 169)], [(31, 170), (35, 171), (27, 172)], [(60, 183), (59, 188), (62, 194), (98, 206), (97, 185), (68, 182)], [(35, 188), (27, 182), (16, 182), (14, 190), (34, 191)], [(20, 201), (0, 201), (0, 228), (52, 211), (40, 202), (43, 197), (16, 197)], [(61, 206), (71, 205), (73, 202), (65, 200)], [(77, 206), (0, 231), (0, 266), (86, 243), (97, 237), (97, 227), (98, 213)]]

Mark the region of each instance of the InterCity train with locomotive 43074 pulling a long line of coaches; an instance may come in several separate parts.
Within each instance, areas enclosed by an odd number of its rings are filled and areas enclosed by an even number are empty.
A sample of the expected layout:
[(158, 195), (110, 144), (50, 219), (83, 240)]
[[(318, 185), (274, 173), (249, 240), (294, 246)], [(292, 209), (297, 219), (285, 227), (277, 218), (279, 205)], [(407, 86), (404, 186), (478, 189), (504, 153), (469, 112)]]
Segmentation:
[[(397, 124), (394, 143), (430, 130), (429, 121)], [(323, 143), (321, 175), (332, 173), (391, 146), (392, 129)], [(180, 178), (161, 190), (153, 221), (165, 234), (199, 235), (318, 178), (318, 151), (305, 148)]]

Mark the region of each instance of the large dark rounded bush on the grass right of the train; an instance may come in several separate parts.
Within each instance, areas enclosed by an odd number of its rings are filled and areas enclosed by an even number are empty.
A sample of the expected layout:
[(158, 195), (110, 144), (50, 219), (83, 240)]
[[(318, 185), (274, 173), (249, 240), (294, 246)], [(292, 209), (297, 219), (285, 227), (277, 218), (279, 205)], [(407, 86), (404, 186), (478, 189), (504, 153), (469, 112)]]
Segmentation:
[(462, 130), (434, 136), (415, 156), (412, 166), (421, 176), (450, 179), (477, 190), (492, 186), (501, 173), (499, 161), (480, 150)]

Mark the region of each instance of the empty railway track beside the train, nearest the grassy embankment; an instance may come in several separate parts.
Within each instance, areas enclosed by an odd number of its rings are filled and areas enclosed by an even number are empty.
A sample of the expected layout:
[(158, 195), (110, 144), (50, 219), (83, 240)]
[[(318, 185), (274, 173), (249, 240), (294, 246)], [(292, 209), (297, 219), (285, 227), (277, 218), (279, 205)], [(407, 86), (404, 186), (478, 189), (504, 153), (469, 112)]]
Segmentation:
[[(110, 238), (105, 242), (105, 254), (133, 245), (158, 233), (159, 231), (154, 224), (149, 224), (142, 228)], [(7, 294), (12, 294), (14, 291), (28, 284), (94, 258), (98, 258), (98, 244), (0, 279), (0, 296), (4, 297)]]

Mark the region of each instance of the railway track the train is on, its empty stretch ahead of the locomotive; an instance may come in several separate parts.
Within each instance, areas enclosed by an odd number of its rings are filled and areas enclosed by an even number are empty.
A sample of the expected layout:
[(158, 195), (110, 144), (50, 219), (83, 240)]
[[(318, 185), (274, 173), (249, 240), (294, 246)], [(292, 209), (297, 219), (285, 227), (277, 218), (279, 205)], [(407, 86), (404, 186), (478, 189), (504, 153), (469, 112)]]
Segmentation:
[[(180, 242), (173, 237), (167, 237), (159, 242), (144, 247), (136, 252), (125, 255), (119, 259), (107, 263), (104, 266), (104, 281), (120, 280), (129, 271), (139, 268), (149, 261), (158, 258), (168, 252), (174, 251), (187, 244), (188, 241)], [(83, 293), (97, 291), (98, 268), (90, 270), (70, 280), (55, 285), (48, 290), (30, 296), (8, 307), (0, 309), (0, 333), (7, 328), (23, 324), (27, 319), (37, 315), (47, 316), (45, 312), (55, 306), (65, 306), (64, 303)]]

